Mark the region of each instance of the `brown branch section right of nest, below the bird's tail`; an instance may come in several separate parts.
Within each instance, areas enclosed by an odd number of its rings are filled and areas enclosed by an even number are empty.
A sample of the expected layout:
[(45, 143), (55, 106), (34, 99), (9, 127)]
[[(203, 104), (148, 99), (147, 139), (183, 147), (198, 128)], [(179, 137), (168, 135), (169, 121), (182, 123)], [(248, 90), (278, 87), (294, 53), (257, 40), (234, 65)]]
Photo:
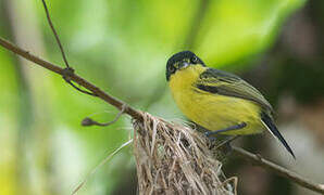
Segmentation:
[(287, 178), (288, 180), (299, 184), (300, 186), (324, 194), (324, 184), (314, 183), (306, 179), (304, 177), (301, 177), (295, 172), (291, 172), (290, 170), (284, 167), (281, 167), (272, 161), (269, 161), (262, 158), (260, 155), (256, 155), (250, 152), (247, 152), (244, 148), (233, 146), (233, 152), (235, 152), (237, 155), (241, 156), (245, 159), (251, 160), (263, 168), (270, 169), (279, 176)]

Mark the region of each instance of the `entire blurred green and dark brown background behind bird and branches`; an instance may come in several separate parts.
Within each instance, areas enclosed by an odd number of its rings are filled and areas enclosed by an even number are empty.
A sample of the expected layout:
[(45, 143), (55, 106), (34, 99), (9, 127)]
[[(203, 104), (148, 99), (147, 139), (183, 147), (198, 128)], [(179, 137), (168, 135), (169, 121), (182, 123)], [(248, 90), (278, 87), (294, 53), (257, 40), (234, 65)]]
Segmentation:
[[(274, 105), (297, 160), (270, 134), (235, 144), (324, 182), (324, 1), (48, 0), (76, 73), (138, 109), (184, 118), (165, 81), (166, 60), (192, 50), (230, 70)], [(40, 0), (0, 0), (0, 36), (50, 62), (62, 57)], [(0, 194), (71, 194), (132, 134), (130, 118), (82, 127), (117, 110), (0, 48)], [(312, 195), (230, 156), (223, 168), (239, 194)], [(135, 194), (132, 146), (101, 167), (78, 194)]]

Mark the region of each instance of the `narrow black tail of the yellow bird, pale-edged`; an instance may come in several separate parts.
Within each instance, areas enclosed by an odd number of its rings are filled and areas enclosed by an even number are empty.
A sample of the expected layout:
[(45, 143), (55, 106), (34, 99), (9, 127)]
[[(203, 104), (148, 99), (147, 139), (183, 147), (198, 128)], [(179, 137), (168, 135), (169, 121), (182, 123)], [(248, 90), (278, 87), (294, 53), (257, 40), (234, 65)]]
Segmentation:
[(288, 145), (288, 143), (286, 142), (286, 140), (284, 139), (284, 136), (281, 134), (281, 132), (278, 131), (278, 129), (274, 125), (272, 118), (267, 114), (261, 113), (261, 121), (266, 127), (266, 129), (271, 132), (271, 134), (273, 136), (275, 136), (279, 142), (282, 142), (282, 144), (286, 147), (286, 150), (296, 159), (292, 150), (290, 148), (290, 146)]

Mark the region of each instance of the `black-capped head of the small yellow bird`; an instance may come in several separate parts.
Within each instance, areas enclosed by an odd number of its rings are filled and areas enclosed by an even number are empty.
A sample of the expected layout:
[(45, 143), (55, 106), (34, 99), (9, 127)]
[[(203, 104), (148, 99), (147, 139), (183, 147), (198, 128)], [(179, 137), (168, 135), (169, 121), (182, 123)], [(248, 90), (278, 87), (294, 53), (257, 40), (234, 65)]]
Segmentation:
[(204, 66), (204, 63), (190, 51), (183, 51), (172, 55), (166, 63), (166, 80), (169, 81), (171, 75), (175, 74), (178, 69), (196, 64)]

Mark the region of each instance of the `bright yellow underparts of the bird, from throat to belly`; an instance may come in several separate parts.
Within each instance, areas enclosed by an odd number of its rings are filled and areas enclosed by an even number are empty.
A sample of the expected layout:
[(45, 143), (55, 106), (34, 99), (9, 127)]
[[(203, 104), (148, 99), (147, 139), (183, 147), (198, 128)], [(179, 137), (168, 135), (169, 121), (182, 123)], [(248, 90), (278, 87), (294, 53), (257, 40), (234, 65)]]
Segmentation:
[(199, 75), (207, 68), (191, 65), (170, 78), (172, 95), (180, 110), (192, 121), (215, 131), (246, 122), (241, 130), (224, 134), (252, 134), (263, 130), (260, 106), (248, 100), (212, 94), (196, 88)]

